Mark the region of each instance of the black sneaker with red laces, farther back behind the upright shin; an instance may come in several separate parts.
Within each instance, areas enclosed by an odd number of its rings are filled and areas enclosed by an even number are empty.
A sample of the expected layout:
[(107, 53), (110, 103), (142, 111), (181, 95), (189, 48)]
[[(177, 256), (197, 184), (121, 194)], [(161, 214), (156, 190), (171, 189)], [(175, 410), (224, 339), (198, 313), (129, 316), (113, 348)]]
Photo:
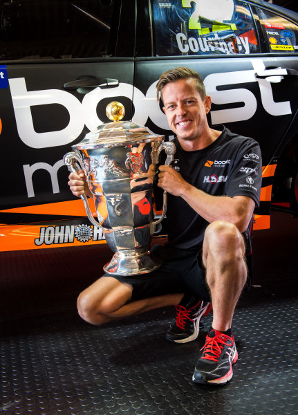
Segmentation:
[(178, 304), (176, 308), (176, 324), (172, 325), (166, 334), (169, 342), (193, 342), (200, 331), (201, 317), (205, 317), (212, 310), (212, 304), (203, 300), (192, 300), (186, 306)]

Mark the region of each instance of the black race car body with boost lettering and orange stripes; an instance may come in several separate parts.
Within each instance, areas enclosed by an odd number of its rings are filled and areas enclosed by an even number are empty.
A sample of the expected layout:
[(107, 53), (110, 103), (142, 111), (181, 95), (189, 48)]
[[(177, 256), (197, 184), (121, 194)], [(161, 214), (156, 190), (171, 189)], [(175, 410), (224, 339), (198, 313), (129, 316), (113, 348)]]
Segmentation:
[(297, 13), (258, 0), (18, 0), (0, 12), (0, 250), (104, 242), (63, 156), (109, 121), (111, 100), (171, 139), (155, 85), (176, 66), (201, 73), (212, 127), (261, 145), (254, 229), (270, 228), (273, 179), (274, 196), (297, 208)]

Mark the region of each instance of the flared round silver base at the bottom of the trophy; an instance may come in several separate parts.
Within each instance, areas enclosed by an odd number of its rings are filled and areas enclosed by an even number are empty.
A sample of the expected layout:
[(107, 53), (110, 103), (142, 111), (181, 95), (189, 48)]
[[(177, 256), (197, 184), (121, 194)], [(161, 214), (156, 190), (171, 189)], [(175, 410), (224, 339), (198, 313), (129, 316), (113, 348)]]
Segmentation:
[(116, 252), (111, 261), (104, 266), (104, 272), (109, 275), (138, 275), (151, 273), (162, 261), (150, 257), (149, 252), (140, 255), (125, 255)]

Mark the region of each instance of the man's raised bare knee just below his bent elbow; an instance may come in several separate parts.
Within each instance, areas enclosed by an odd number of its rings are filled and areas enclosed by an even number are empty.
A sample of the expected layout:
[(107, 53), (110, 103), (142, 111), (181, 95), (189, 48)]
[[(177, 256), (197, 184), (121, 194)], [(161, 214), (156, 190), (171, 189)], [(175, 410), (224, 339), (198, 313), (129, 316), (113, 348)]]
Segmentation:
[(226, 260), (243, 258), (245, 243), (242, 234), (233, 223), (214, 221), (205, 230), (203, 255), (214, 255)]

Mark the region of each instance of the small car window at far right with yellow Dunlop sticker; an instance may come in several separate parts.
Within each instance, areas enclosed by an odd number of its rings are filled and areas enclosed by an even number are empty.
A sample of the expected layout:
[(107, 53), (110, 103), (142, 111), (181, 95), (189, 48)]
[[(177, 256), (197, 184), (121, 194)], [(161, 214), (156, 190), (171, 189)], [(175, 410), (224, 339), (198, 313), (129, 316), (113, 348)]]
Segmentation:
[(298, 26), (263, 8), (254, 7), (264, 43), (270, 53), (298, 52)]

